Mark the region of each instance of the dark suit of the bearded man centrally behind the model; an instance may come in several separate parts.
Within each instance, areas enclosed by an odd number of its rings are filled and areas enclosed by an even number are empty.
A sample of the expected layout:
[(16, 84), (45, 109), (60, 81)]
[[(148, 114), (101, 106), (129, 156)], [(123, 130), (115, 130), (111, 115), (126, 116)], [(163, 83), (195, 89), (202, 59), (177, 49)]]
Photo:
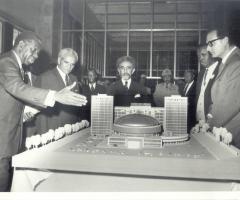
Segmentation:
[(108, 88), (107, 94), (114, 96), (115, 106), (130, 106), (131, 103), (151, 103), (151, 98), (146, 88), (133, 80), (129, 89), (123, 85), (121, 80), (112, 83)]

